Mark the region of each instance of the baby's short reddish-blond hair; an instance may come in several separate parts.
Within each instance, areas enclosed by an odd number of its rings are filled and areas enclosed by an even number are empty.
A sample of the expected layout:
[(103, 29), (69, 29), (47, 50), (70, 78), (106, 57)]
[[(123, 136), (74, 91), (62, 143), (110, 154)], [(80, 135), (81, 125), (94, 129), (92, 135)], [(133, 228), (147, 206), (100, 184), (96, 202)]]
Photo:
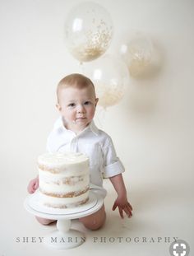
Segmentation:
[(62, 89), (67, 87), (75, 87), (78, 89), (82, 89), (88, 86), (92, 86), (95, 92), (95, 86), (93, 82), (90, 80), (90, 78), (78, 73), (73, 73), (71, 75), (68, 75), (67, 77), (63, 77), (62, 80), (59, 81), (57, 87), (57, 96), (59, 95), (59, 92)]

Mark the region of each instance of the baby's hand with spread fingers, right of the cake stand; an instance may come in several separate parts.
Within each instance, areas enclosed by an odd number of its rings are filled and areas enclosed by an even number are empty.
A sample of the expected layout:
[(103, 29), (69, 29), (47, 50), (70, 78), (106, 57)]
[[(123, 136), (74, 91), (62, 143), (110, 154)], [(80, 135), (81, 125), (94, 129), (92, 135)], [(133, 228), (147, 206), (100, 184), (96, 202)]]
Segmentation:
[(132, 216), (132, 206), (127, 201), (127, 197), (119, 197), (115, 200), (113, 204), (113, 211), (118, 207), (118, 211), (120, 213), (120, 216), (123, 219), (123, 212), (126, 212), (127, 216), (130, 218)]

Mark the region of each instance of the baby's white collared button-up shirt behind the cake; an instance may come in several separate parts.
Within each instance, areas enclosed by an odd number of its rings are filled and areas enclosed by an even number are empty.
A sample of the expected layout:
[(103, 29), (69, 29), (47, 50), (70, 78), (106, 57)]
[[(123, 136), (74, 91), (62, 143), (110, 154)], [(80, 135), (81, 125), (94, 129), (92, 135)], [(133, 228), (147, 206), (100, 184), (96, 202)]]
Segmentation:
[(118, 159), (111, 137), (99, 130), (92, 121), (81, 133), (76, 134), (64, 127), (60, 117), (54, 123), (48, 136), (47, 150), (73, 151), (86, 154), (90, 158), (90, 183), (101, 186), (104, 178), (124, 172)]

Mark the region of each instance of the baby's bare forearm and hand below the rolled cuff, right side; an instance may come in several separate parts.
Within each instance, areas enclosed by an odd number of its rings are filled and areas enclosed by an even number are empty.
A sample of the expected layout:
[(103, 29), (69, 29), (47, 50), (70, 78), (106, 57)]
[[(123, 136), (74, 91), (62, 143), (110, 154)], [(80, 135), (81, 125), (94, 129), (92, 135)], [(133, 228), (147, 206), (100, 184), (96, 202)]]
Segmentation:
[(124, 181), (122, 179), (122, 174), (115, 175), (109, 178), (113, 184), (114, 189), (118, 193), (118, 198), (115, 200), (113, 204), (113, 211), (118, 207), (118, 211), (120, 216), (123, 218), (123, 212), (126, 212), (128, 217), (132, 216), (132, 206), (127, 201), (127, 190), (125, 188)]

